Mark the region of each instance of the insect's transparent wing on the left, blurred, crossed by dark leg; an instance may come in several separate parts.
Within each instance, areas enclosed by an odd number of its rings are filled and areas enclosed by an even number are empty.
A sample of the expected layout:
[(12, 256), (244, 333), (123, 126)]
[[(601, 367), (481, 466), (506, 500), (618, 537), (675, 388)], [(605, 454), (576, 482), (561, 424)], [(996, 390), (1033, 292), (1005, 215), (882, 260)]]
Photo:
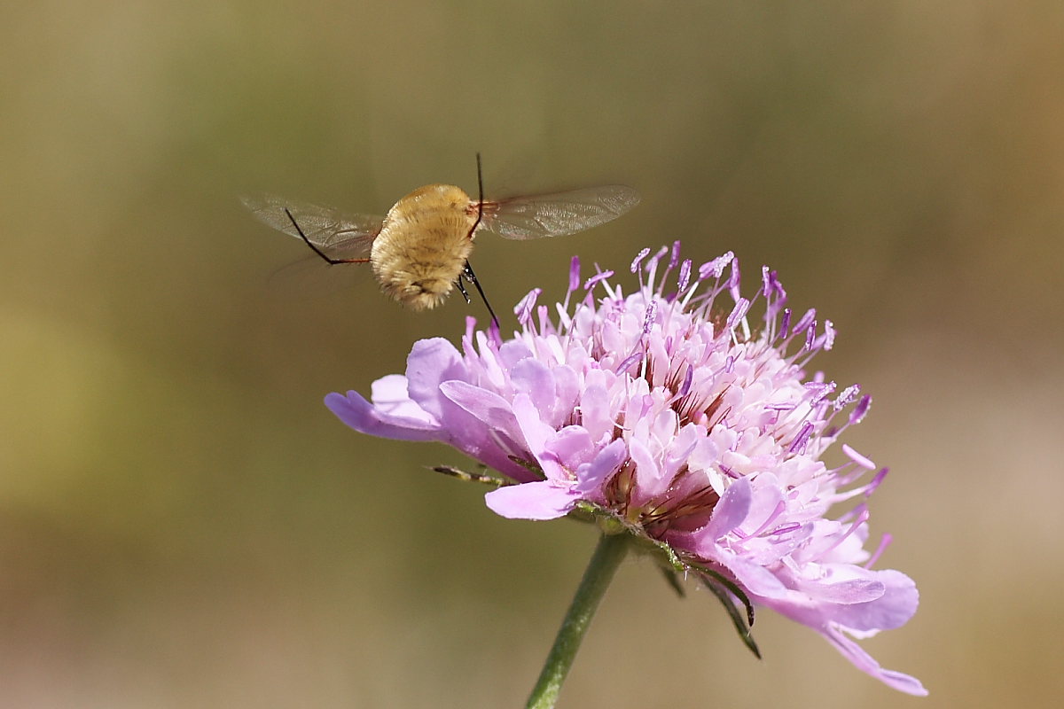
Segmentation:
[(288, 218), (287, 213), (292, 213), (306, 239), (330, 256), (352, 257), (365, 253), (384, 222), (383, 217), (345, 215), (332, 207), (295, 202), (276, 195), (253, 195), (242, 197), (240, 201), (259, 221), (299, 239), (299, 232)]

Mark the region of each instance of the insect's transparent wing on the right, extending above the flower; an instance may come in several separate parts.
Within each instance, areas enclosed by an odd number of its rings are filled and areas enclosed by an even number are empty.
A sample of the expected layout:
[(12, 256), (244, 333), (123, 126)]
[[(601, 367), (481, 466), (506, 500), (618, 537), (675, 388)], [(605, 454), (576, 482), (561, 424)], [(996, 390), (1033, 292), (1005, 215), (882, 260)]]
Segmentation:
[(564, 236), (604, 224), (638, 203), (639, 193), (625, 185), (485, 200), (483, 229), (508, 239)]

